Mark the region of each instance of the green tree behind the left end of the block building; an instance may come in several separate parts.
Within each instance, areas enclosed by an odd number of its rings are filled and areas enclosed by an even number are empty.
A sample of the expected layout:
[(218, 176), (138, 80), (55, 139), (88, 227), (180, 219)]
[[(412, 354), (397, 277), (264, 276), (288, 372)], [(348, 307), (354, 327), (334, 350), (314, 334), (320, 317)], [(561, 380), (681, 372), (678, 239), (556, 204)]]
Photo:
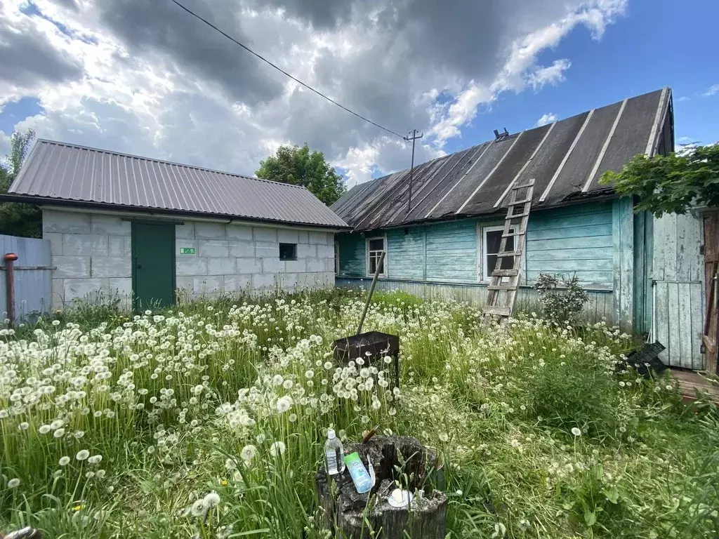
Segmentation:
[[(0, 162), (0, 194), (7, 193), (27, 157), (35, 132), (13, 133), (10, 137), (10, 154)], [(32, 204), (0, 202), (0, 234), (9, 236), (42, 237), (42, 212)]]

